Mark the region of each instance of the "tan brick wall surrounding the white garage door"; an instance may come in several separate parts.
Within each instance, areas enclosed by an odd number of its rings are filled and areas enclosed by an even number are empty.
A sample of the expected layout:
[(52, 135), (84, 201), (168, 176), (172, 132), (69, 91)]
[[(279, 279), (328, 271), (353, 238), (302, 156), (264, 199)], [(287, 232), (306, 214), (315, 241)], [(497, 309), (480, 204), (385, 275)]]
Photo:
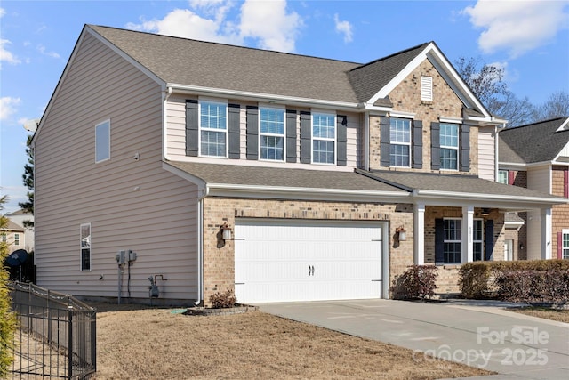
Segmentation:
[[(341, 221), (389, 221), (389, 283), (413, 264), (413, 206), (373, 203), (310, 202), (238, 198), (204, 199), (204, 304), (218, 291), (234, 289), (235, 245), (220, 240), (224, 222), (236, 218), (278, 218)], [(407, 239), (394, 244), (396, 228), (405, 226)], [(387, 253), (385, 253), (387, 254)]]

